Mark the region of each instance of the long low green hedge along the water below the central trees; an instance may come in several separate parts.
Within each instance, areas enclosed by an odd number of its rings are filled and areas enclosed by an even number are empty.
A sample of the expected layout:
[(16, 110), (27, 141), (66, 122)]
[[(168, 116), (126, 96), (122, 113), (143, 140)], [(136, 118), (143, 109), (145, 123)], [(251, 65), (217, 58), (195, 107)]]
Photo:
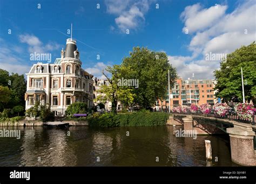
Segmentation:
[(165, 125), (169, 114), (164, 112), (132, 112), (126, 114), (93, 114), (88, 117), (90, 126), (159, 126)]

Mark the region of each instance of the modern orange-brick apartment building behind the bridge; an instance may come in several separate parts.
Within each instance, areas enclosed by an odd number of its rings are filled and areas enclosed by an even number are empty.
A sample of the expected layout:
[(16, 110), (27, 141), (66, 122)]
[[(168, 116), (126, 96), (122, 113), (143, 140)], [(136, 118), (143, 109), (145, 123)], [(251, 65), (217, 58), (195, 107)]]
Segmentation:
[[(176, 79), (173, 88), (170, 89), (171, 109), (178, 105), (189, 105), (190, 103), (198, 105), (204, 103), (215, 104), (217, 102), (213, 89), (215, 82), (215, 80), (204, 79)], [(159, 108), (169, 108), (168, 93), (166, 96), (166, 100), (163, 103), (158, 100)]]

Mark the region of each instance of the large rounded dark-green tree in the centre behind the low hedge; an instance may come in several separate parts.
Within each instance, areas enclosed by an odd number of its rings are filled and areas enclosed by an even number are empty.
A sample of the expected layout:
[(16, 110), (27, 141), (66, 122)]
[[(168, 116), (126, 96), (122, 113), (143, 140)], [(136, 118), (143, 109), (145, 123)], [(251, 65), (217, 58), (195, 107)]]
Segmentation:
[(164, 52), (150, 51), (145, 47), (134, 47), (129, 57), (121, 64), (127, 68), (126, 79), (138, 79), (139, 88), (134, 89), (134, 104), (140, 108), (149, 108), (157, 98), (164, 98), (168, 88), (168, 70), (170, 69), (170, 86), (177, 77), (176, 69), (170, 65)]

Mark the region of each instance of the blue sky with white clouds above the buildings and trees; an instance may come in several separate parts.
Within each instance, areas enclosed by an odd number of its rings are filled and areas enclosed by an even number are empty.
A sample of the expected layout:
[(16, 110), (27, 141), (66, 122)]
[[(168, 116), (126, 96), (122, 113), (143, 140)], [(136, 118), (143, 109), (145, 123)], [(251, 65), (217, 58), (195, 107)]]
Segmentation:
[(60, 58), (72, 23), (83, 68), (95, 76), (144, 46), (166, 52), (181, 77), (211, 79), (219, 60), (206, 60), (206, 54), (252, 43), (255, 9), (254, 1), (235, 0), (0, 0), (0, 68), (28, 73), (38, 62), (30, 61), (33, 52), (51, 53), (52, 62)]

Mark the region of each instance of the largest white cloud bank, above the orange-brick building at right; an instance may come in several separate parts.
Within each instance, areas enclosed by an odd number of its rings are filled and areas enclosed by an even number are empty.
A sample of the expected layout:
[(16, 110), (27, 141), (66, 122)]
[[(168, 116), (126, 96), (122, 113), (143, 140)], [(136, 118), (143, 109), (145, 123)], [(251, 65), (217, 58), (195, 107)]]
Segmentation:
[(206, 53), (228, 54), (255, 40), (256, 3), (244, 2), (231, 13), (225, 13), (226, 9), (226, 5), (218, 5), (215, 10), (215, 6), (202, 9), (200, 4), (194, 4), (181, 13), (185, 23), (183, 31), (188, 29), (192, 33), (188, 45), (192, 56), (169, 56), (170, 63), (181, 77), (192, 77), (194, 73), (198, 79), (212, 79), (219, 61), (205, 61)]

